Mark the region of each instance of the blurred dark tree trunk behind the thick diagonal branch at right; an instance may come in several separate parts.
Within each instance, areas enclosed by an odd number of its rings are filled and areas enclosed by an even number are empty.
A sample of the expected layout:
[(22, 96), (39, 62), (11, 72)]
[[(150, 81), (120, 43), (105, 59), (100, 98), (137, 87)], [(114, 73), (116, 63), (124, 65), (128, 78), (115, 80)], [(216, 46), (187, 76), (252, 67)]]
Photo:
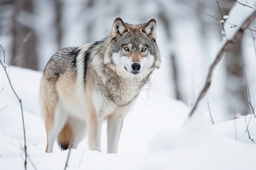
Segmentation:
[[(223, 15), (228, 15), (234, 2), (226, 1), (221, 7)], [(246, 88), (241, 80), (245, 77), (244, 60), (242, 56), (241, 40), (237, 41), (225, 55), (226, 70), (227, 70), (227, 103), (230, 113), (241, 113), (247, 115), (249, 113), (246, 99)], [(245, 78), (244, 78), (245, 80)]]

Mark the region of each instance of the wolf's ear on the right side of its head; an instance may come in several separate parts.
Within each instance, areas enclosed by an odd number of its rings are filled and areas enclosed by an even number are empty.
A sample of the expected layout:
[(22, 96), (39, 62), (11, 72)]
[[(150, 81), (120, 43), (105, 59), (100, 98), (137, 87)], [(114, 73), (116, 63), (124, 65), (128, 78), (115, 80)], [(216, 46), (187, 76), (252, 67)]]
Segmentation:
[(157, 22), (155, 19), (149, 20), (149, 22), (147, 22), (142, 28), (142, 32), (144, 32), (149, 37), (149, 39), (154, 42), (156, 42), (156, 31)]

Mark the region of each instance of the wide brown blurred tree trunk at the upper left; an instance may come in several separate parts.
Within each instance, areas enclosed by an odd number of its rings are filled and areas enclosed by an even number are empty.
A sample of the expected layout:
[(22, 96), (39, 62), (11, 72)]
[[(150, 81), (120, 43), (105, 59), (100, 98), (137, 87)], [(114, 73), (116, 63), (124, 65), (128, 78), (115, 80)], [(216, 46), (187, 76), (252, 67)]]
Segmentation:
[[(21, 12), (33, 13), (32, 0), (13, 1), (13, 45), (11, 65), (28, 69), (38, 69), (38, 58), (35, 52), (35, 34), (32, 28), (22, 25), (17, 21)], [(22, 22), (22, 21), (21, 21)], [(30, 22), (33, 22), (30, 20)]]

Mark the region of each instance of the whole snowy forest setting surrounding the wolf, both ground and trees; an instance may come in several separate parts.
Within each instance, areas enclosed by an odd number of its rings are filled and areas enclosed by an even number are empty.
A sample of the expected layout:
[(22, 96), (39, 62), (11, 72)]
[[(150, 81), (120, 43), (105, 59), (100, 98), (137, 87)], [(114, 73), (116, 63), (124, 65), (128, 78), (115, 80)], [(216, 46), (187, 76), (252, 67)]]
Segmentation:
[[(224, 54), (206, 96), (188, 118), (223, 42), (256, 10), (255, 0), (219, 0), (218, 4), (216, 0), (0, 0), (0, 45), (5, 51), (4, 58), (0, 48), (4, 63), (0, 67), (0, 169), (27, 165), (27, 169), (54, 170), (254, 170), (255, 20)], [(45, 153), (38, 94), (47, 61), (64, 47), (110, 35), (117, 17), (130, 24), (155, 18), (162, 55), (160, 69), (146, 87), (150, 91), (140, 93), (124, 119), (118, 154), (107, 154), (106, 122), (102, 153), (88, 149), (87, 137), (77, 149), (60, 151), (55, 141), (54, 152)], [(22, 114), (13, 89), (22, 101)]]

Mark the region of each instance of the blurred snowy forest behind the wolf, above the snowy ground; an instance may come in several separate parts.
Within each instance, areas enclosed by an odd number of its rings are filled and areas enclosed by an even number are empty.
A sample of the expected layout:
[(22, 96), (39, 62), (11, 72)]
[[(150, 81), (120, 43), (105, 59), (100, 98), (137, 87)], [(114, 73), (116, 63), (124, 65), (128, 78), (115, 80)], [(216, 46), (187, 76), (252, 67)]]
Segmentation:
[[(223, 15), (234, 3), (219, 1)], [(42, 71), (58, 50), (108, 36), (116, 17), (131, 24), (155, 18), (162, 64), (152, 76), (151, 91), (191, 106), (222, 39), (221, 23), (206, 14), (221, 19), (215, 0), (5, 0), (0, 5), (0, 43), (7, 64)], [(232, 119), (234, 112), (250, 113), (241, 78), (247, 73), (249, 87), (255, 87), (255, 66), (253, 38), (246, 30), (218, 65), (206, 96), (216, 122)], [(256, 88), (250, 90), (254, 96)]]

